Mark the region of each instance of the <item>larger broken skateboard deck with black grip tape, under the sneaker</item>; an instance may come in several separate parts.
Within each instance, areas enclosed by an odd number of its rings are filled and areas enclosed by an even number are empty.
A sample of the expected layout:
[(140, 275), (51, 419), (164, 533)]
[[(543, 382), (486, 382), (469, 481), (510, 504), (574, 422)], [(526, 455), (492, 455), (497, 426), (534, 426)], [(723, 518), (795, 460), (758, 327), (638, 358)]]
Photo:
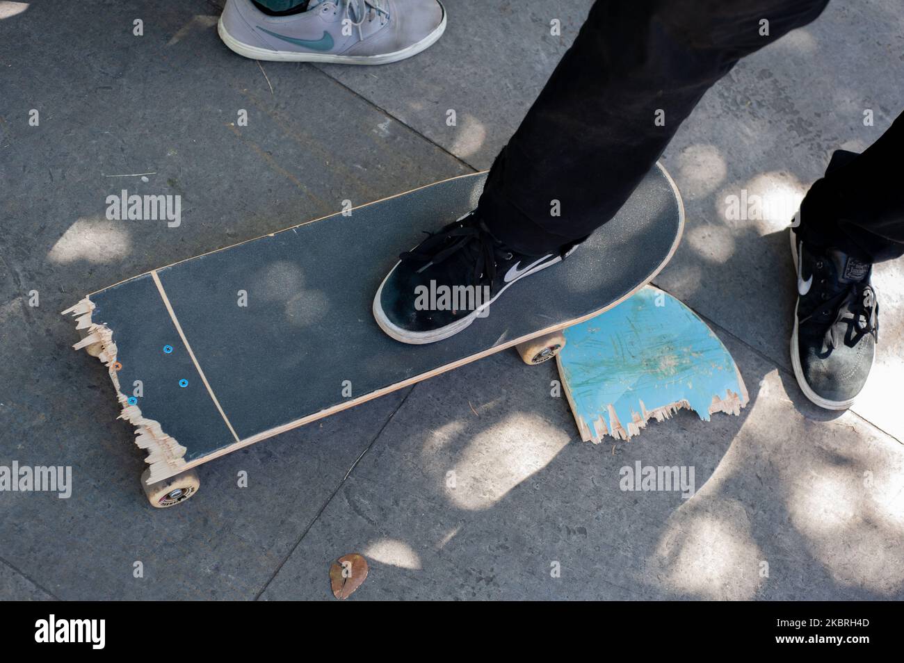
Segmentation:
[[(560, 265), (523, 279), (465, 331), (408, 345), (371, 313), (422, 231), (474, 209), (475, 173), (307, 221), (89, 294), (69, 313), (107, 366), (147, 484), (597, 315), (648, 283), (683, 229), (657, 164)], [(137, 386), (140, 386), (138, 388)]]

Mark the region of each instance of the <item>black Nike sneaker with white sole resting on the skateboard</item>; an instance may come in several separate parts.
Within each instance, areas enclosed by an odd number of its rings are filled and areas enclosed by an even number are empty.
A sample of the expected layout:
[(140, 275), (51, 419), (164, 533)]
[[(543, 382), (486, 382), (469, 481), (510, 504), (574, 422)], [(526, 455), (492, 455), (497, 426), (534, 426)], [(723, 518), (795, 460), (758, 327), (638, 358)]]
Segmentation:
[(472, 211), (400, 255), (373, 298), (373, 317), (396, 341), (442, 341), (485, 317), (510, 285), (576, 246), (525, 256), (494, 238)]

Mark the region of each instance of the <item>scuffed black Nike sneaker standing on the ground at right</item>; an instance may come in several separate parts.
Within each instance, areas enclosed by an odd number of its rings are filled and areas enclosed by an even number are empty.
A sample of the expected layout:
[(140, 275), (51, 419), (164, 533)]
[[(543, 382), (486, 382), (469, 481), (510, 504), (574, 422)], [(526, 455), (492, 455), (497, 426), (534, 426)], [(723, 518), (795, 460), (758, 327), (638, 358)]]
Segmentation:
[(791, 229), (797, 306), (791, 364), (817, 406), (852, 406), (870, 375), (879, 336), (872, 266), (841, 251), (806, 247)]

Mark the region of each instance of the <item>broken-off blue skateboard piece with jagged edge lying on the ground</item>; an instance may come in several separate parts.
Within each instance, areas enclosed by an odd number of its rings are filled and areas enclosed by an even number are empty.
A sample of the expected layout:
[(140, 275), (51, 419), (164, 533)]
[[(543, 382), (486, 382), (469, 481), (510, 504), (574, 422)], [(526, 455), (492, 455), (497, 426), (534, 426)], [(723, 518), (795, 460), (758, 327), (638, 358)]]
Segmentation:
[(570, 326), (556, 355), (581, 439), (627, 440), (680, 409), (704, 421), (739, 415), (744, 378), (719, 337), (671, 294), (645, 285), (606, 313)]

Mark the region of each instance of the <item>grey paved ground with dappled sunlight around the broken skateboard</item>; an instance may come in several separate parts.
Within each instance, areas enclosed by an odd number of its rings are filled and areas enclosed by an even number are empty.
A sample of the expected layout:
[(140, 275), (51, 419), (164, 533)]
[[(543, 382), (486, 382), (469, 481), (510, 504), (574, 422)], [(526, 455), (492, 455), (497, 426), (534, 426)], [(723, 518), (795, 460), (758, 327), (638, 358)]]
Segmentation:
[[(582, 443), (555, 368), (503, 352), (206, 464), (176, 509), (147, 505), (105, 370), (59, 312), (344, 199), (487, 168), (589, 0), (447, 5), (434, 47), (353, 69), (242, 59), (216, 35), (219, 2), (0, 2), (0, 464), (74, 481), (68, 500), (0, 493), (0, 598), (332, 600), (328, 567), (350, 552), (371, 563), (354, 599), (904, 598), (902, 263), (876, 269), (869, 393), (821, 411), (789, 367), (785, 230), (831, 151), (904, 107), (897, 0), (835, 0), (743, 61), (665, 154), (687, 228), (656, 283), (734, 354), (741, 416)], [(122, 188), (181, 194), (182, 226), (107, 221)], [(726, 219), (745, 190), (769, 213)], [(619, 490), (636, 461), (693, 466), (697, 493)]]

